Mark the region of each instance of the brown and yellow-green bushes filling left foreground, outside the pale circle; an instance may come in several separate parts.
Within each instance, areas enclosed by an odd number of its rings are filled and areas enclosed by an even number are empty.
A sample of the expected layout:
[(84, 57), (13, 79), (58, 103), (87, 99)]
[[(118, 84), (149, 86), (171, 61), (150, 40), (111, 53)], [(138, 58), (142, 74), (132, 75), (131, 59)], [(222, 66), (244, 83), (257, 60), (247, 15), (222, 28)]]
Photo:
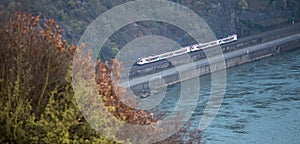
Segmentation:
[(73, 98), (68, 45), (54, 20), (15, 13), (0, 30), (0, 143), (112, 143)]

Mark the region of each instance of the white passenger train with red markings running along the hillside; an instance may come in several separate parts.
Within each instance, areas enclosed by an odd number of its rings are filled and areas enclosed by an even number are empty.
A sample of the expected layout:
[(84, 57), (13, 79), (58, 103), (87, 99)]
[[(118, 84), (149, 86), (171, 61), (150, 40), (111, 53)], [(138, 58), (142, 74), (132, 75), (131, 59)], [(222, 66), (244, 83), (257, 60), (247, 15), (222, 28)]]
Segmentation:
[(153, 62), (156, 62), (156, 61), (159, 61), (159, 60), (168, 59), (168, 58), (176, 57), (176, 56), (183, 55), (183, 54), (186, 54), (186, 53), (199, 51), (199, 50), (204, 50), (204, 49), (207, 49), (207, 48), (210, 48), (210, 47), (213, 47), (213, 46), (218, 46), (218, 45), (230, 43), (230, 42), (233, 42), (233, 41), (237, 41), (237, 39), (238, 39), (237, 34), (233, 34), (233, 35), (230, 35), (226, 38), (214, 40), (214, 41), (211, 41), (211, 42), (194, 44), (194, 45), (191, 45), (191, 46), (182, 47), (178, 50), (166, 52), (166, 53), (163, 53), (163, 54), (141, 57), (141, 58), (138, 58), (136, 64), (137, 65), (144, 65), (144, 64), (148, 64), (148, 63), (153, 63)]

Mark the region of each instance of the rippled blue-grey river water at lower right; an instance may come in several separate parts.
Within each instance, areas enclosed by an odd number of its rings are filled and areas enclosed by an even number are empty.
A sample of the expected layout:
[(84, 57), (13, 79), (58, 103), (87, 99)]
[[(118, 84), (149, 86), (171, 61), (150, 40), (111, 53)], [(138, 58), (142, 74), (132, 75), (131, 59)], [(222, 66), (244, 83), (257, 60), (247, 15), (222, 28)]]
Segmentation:
[[(194, 123), (201, 119), (207, 83), (201, 85)], [(178, 93), (180, 85), (169, 87), (160, 109), (172, 111)], [(208, 144), (300, 143), (300, 50), (228, 69), (225, 98), (202, 138)]]

